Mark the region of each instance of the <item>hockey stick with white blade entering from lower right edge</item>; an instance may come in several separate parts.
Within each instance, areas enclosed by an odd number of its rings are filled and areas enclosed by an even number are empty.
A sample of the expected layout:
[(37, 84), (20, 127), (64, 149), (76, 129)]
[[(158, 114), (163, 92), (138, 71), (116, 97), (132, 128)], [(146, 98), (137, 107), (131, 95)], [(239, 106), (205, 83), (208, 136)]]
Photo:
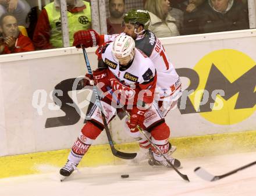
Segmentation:
[(219, 180), (219, 179), (223, 179), (223, 177), (230, 176), (233, 173), (239, 172), (240, 170), (246, 169), (246, 168), (248, 168), (252, 165), (255, 165), (255, 164), (256, 164), (256, 161), (254, 161), (252, 163), (249, 163), (249, 164), (247, 164), (247, 165), (245, 165), (241, 168), (237, 168), (237, 169), (235, 169), (231, 172), (227, 172), (225, 174), (222, 174), (220, 176), (214, 176), (211, 173), (207, 172), (207, 170), (205, 170), (201, 167), (195, 168), (194, 172), (195, 172), (195, 174), (197, 174), (197, 176), (201, 177), (201, 179), (204, 179), (204, 180), (207, 180), (207, 181), (216, 181), (216, 180)]

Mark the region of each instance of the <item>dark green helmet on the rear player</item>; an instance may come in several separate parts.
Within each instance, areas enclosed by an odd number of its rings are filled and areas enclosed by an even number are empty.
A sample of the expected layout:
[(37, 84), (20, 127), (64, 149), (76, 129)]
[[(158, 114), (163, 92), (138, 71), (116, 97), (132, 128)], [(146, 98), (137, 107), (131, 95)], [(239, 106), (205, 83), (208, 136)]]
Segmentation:
[(150, 25), (150, 14), (147, 10), (131, 9), (125, 14), (123, 20), (125, 23), (134, 24), (135, 28), (142, 25), (144, 30), (147, 30), (148, 26)]

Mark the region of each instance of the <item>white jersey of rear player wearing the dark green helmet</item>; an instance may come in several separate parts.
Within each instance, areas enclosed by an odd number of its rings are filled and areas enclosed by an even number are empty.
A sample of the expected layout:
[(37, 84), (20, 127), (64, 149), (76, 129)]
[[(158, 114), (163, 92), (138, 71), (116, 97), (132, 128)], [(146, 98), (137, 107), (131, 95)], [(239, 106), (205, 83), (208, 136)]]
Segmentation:
[[(104, 41), (115, 41), (118, 35), (104, 35)], [(144, 35), (139, 35), (135, 40), (135, 44), (136, 48), (143, 51), (152, 60), (157, 69), (158, 79), (156, 91), (159, 93), (159, 97), (155, 97), (155, 99), (161, 100), (170, 97), (174, 91), (181, 88), (179, 75), (173, 67), (172, 62), (170, 62), (161, 41), (155, 37), (152, 31), (147, 30)]]

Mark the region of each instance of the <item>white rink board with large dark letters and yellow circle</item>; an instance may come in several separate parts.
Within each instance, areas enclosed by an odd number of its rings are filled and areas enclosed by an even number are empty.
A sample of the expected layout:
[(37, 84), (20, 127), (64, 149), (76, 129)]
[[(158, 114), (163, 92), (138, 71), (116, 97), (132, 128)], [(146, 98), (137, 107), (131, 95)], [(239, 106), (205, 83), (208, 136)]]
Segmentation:
[[(256, 130), (256, 30), (161, 41), (181, 77), (184, 93), (194, 91), (188, 98), (183, 94), (181, 107), (166, 116), (173, 140)], [(87, 49), (93, 69), (97, 66), (95, 49)], [(83, 54), (73, 47), (0, 56), (3, 159), (72, 146), (83, 127), (92, 93), (73, 85), (85, 72)], [(207, 92), (209, 99), (205, 102)], [(61, 103), (62, 109), (54, 102)], [(125, 131), (124, 120), (116, 117), (109, 124), (115, 144), (134, 142)], [(108, 140), (103, 132), (94, 145), (105, 144)]]

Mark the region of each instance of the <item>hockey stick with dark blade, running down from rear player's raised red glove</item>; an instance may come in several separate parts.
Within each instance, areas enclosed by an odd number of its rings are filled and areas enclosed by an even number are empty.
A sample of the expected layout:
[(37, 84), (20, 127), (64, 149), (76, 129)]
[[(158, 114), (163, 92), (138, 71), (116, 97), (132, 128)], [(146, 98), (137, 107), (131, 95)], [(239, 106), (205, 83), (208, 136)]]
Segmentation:
[[(91, 71), (91, 66), (90, 66), (90, 62), (88, 60), (86, 49), (82, 45), (81, 45), (81, 48), (83, 48), (84, 60), (86, 60), (86, 67), (87, 67), (88, 73), (89, 74), (93, 74), (93, 72)], [(96, 87), (96, 85), (93, 86), (93, 92), (94, 92), (95, 97), (97, 99), (95, 104), (98, 105), (98, 107), (99, 107), (99, 109), (101, 111), (102, 121), (104, 123), (104, 128), (105, 128), (105, 131), (106, 131), (106, 136), (108, 137), (108, 142), (109, 142), (109, 145), (111, 147), (112, 154), (117, 156), (117, 157), (119, 157), (119, 158), (122, 158), (122, 159), (133, 159), (133, 158), (135, 158), (137, 153), (120, 152), (120, 151), (118, 151), (115, 148), (115, 146), (113, 144), (113, 141), (112, 141), (112, 137), (111, 137), (110, 131), (108, 129), (108, 123), (106, 123), (106, 117), (105, 117), (104, 112), (103, 112), (101, 101), (100, 101), (99, 95), (98, 95), (98, 88)]]

